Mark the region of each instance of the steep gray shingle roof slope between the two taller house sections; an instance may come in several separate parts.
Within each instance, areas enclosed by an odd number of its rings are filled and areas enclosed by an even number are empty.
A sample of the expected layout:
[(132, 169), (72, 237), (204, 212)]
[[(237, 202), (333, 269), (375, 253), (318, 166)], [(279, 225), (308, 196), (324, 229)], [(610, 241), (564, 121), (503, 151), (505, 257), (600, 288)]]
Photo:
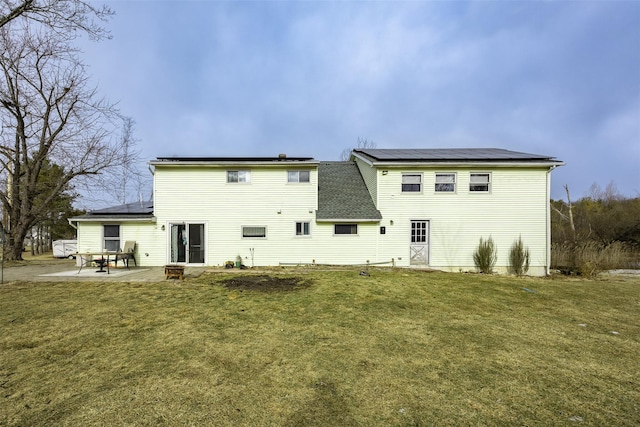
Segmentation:
[(317, 220), (379, 221), (382, 219), (354, 162), (318, 165)]

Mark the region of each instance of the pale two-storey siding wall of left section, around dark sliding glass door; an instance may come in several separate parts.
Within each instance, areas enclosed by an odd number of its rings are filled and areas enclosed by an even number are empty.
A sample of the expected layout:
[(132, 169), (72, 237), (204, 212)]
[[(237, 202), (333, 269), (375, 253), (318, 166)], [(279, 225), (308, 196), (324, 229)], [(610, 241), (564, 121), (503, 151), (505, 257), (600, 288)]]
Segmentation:
[[(311, 262), (317, 225), (317, 170), (309, 183), (288, 183), (294, 167), (230, 167), (251, 170), (250, 183), (227, 183), (227, 168), (156, 167), (154, 209), (158, 226), (165, 225), (165, 260), (169, 224), (205, 224), (206, 264), (224, 265), (237, 255), (246, 265)], [(311, 236), (296, 236), (295, 223), (309, 222)], [(266, 226), (266, 239), (242, 238), (242, 226)], [(166, 261), (165, 261), (166, 262)]]

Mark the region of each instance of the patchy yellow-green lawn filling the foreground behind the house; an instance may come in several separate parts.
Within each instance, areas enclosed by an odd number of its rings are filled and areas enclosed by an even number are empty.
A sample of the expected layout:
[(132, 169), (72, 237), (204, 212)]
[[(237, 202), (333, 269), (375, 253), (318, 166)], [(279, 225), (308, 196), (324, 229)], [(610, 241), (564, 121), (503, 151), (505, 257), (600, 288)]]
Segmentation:
[(0, 286), (0, 425), (640, 424), (639, 278), (358, 272)]

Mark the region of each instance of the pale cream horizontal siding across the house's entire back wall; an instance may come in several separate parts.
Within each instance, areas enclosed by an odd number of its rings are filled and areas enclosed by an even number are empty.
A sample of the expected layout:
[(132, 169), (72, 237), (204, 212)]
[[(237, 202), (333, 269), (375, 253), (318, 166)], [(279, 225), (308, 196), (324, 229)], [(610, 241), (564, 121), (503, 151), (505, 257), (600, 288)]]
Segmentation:
[[(250, 183), (227, 183), (223, 167), (157, 166), (154, 175), (156, 223), (121, 224), (121, 241), (137, 242), (139, 265), (169, 262), (172, 222), (205, 224), (205, 264), (222, 266), (240, 255), (246, 265), (279, 263), (409, 265), (410, 221), (430, 222), (429, 266), (473, 271), (480, 237), (498, 248), (504, 271), (513, 242), (522, 236), (531, 252), (531, 274), (545, 274), (547, 261), (546, 168), (371, 168), (358, 163), (383, 219), (358, 224), (357, 235), (334, 235), (334, 224), (316, 223), (317, 169), (309, 183), (287, 183), (292, 167), (233, 167), (251, 170)], [(421, 172), (423, 191), (402, 193), (403, 172)], [(435, 173), (455, 172), (454, 194), (436, 193)], [(489, 193), (470, 193), (471, 172), (491, 173)], [(296, 236), (295, 223), (310, 223), (310, 236)], [(267, 227), (266, 239), (242, 238), (242, 226)], [(164, 226), (164, 230), (162, 227)], [(386, 234), (380, 234), (380, 226)], [(98, 251), (101, 224), (82, 223), (78, 250)], [(253, 250), (253, 251), (252, 251)], [(252, 259), (253, 255), (253, 259)]]

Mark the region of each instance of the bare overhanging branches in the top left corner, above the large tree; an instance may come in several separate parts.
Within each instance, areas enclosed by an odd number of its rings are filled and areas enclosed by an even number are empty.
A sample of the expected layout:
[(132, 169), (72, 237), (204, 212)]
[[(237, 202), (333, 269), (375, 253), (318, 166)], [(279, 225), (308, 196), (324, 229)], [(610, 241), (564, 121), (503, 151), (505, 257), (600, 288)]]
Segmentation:
[(33, 21), (67, 39), (77, 32), (94, 40), (108, 37), (101, 24), (112, 15), (107, 6), (82, 0), (0, 0), (0, 28), (19, 20)]

